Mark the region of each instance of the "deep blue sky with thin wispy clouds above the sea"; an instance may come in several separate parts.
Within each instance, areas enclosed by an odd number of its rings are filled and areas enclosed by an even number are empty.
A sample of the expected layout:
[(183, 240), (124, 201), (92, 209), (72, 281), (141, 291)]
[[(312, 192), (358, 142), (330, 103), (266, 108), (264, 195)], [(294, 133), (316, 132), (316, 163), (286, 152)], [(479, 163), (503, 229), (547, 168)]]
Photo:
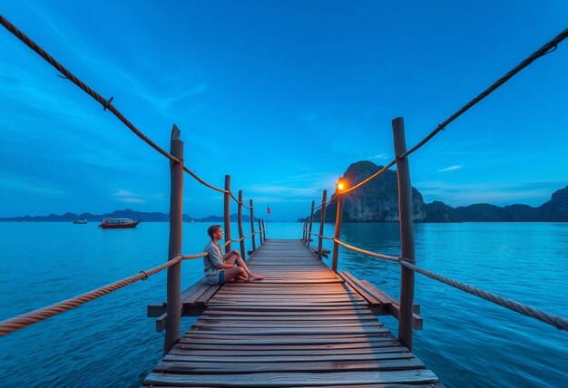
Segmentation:
[[(186, 166), (270, 218), (406, 143), (568, 27), (565, 1), (0, 1), (2, 15)], [(540, 205), (568, 184), (568, 42), (410, 158), (426, 202)], [(168, 211), (169, 163), (0, 29), (0, 217)], [(236, 207), (233, 208), (236, 211)], [(184, 212), (222, 213), (185, 178)]]

